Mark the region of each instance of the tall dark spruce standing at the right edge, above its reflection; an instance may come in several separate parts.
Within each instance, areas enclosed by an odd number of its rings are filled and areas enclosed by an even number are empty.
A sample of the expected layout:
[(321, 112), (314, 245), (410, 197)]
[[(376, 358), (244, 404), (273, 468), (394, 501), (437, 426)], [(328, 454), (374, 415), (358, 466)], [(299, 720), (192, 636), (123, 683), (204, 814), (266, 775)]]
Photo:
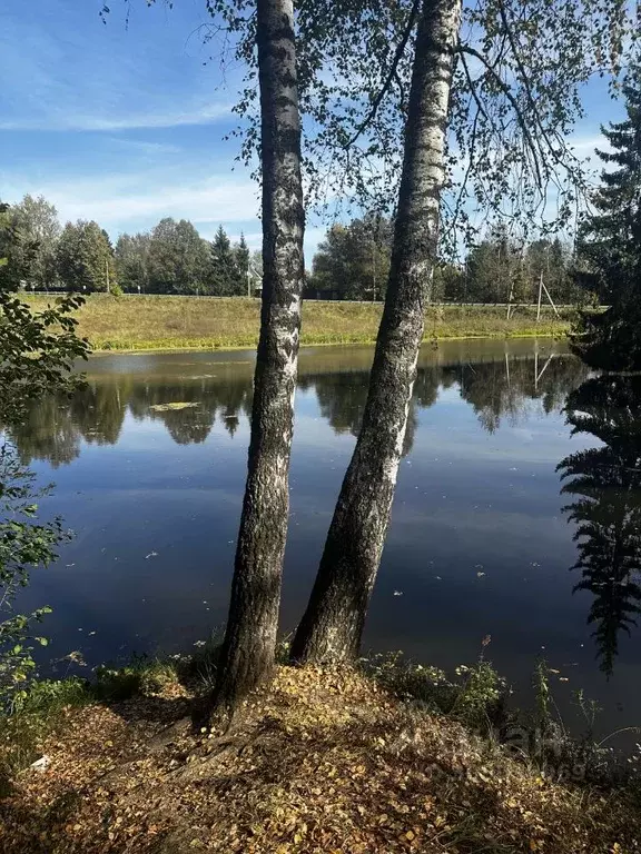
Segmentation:
[(583, 314), (572, 340), (591, 366), (641, 369), (641, 64), (622, 87), (627, 117), (603, 128), (611, 151), (593, 198), (595, 211), (581, 228), (579, 281), (610, 304), (604, 312)]

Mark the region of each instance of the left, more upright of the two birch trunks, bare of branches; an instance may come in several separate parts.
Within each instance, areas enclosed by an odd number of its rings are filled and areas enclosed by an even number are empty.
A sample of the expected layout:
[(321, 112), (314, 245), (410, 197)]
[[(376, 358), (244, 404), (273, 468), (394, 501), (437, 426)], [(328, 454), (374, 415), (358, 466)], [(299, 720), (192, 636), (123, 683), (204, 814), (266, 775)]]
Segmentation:
[(258, 0), (263, 307), (231, 600), (214, 694), (233, 709), (274, 666), (303, 290), (300, 119), (292, 0)]

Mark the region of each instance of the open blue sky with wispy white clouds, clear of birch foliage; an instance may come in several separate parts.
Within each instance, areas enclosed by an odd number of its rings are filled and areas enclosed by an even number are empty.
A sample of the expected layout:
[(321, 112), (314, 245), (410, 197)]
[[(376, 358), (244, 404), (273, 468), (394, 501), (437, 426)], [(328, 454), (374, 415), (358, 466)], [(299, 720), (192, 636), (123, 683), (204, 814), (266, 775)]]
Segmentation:
[[(204, 0), (147, 8), (111, 0), (4, 0), (0, 11), (0, 198), (42, 193), (62, 220), (96, 219), (114, 238), (185, 217), (260, 246), (258, 191), (235, 162), (230, 112), (240, 69), (223, 73), (197, 28)], [(575, 142), (588, 155), (618, 110), (603, 86)], [(308, 227), (307, 262), (324, 229)]]

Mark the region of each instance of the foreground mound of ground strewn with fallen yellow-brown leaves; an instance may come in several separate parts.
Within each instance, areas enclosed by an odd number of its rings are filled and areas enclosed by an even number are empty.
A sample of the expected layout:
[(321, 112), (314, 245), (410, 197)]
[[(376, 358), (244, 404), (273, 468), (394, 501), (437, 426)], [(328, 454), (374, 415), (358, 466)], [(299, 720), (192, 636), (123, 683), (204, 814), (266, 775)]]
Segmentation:
[[(70, 711), (0, 805), (4, 854), (631, 854), (621, 792), (543, 779), (353, 671), (280, 667), (228, 733), (180, 686)], [(159, 735), (160, 734), (160, 735)]]

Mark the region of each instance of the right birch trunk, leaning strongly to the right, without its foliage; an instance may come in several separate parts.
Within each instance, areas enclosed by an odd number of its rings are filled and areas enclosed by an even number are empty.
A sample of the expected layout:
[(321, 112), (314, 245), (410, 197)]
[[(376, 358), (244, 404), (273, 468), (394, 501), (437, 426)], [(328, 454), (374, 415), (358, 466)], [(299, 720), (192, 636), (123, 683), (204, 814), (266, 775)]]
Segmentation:
[(445, 133), (462, 0), (424, 0), (405, 129), (392, 267), (363, 426), (345, 475), (294, 661), (358, 654), (389, 522), (423, 338), (445, 181)]

